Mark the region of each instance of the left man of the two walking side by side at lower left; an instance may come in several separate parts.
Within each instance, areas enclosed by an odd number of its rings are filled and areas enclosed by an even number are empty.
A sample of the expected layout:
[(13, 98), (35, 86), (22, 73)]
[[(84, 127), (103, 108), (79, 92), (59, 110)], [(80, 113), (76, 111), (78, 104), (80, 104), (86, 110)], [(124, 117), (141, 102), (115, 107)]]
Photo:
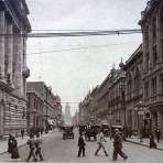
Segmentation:
[(30, 134), (30, 139), (26, 142), (30, 146), (29, 156), (26, 159), (26, 162), (30, 161), (31, 156), (33, 157), (33, 161), (37, 161), (35, 156), (35, 140), (34, 134)]

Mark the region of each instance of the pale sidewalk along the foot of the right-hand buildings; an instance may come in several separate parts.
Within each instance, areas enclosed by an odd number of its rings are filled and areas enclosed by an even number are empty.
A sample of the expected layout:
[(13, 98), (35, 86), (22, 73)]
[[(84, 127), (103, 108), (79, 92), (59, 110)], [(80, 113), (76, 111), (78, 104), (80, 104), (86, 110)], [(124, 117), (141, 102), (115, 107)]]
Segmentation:
[[(143, 139), (142, 142), (140, 142), (140, 138), (138, 137), (127, 138), (126, 141), (134, 144), (143, 145), (143, 146), (148, 146), (148, 148), (150, 144), (150, 140), (148, 138)], [(156, 143), (156, 140), (155, 140), (155, 143)], [(160, 141), (159, 143), (156, 143), (156, 149), (163, 151), (163, 141)]]

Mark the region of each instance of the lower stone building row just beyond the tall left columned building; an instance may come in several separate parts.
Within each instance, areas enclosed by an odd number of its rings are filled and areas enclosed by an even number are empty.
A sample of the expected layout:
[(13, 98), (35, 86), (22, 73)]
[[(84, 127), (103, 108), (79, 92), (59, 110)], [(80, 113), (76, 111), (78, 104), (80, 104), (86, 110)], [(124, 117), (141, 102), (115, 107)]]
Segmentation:
[[(34, 95), (30, 96), (31, 93), (34, 93)], [(33, 113), (37, 113), (34, 117), (37, 118), (37, 122), (40, 121), (44, 129), (46, 129), (47, 126), (56, 126), (62, 120), (61, 98), (52, 93), (51, 87), (47, 87), (44, 82), (28, 82), (28, 95), (30, 97), (28, 108), (30, 119), (32, 119)], [(39, 107), (42, 101), (43, 109)], [(33, 105), (31, 106), (31, 104)]]

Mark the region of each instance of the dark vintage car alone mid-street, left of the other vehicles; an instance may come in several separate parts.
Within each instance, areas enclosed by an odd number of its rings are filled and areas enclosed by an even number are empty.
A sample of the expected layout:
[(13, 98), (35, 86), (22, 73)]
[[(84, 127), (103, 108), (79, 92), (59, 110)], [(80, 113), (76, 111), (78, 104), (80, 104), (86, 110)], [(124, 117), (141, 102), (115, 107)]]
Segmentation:
[(63, 139), (73, 138), (74, 139), (74, 128), (73, 126), (64, 126), (63, 127)]

